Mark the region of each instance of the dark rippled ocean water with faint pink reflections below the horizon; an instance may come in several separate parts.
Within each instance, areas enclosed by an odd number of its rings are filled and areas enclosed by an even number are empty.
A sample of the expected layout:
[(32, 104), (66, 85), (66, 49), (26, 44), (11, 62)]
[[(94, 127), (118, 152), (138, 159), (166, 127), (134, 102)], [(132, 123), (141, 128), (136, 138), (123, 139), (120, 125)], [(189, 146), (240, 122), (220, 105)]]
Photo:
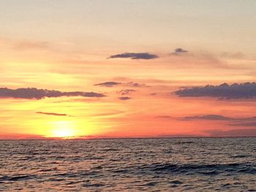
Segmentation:
[(0, 191), (256, 191), (256, 138), (1, 140)]

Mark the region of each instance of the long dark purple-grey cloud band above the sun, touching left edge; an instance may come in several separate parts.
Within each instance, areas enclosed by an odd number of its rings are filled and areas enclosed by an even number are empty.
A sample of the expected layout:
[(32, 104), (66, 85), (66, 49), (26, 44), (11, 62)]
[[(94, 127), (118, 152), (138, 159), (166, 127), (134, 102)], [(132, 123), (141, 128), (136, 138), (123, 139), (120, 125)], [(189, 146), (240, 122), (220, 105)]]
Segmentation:
[(45, 97), (61, 97), (61, 96), (83, 96), (83, 97), (103, 97), (102, 93), (94, 92), (61, 92), (48, 89), (37, 88), (0, 88), (0, 98), (17, 98), (17, 99), (43, 99)]

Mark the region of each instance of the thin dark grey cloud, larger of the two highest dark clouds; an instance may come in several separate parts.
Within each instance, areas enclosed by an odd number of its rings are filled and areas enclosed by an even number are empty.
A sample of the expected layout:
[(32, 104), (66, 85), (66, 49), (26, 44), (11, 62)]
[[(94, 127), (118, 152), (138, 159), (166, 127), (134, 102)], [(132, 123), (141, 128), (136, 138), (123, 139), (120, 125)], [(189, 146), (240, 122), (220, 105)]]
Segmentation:
[(159, 56), (151, 53), (121, 53), (111, 55), (109, 58), (153, 59), (159, 58)]

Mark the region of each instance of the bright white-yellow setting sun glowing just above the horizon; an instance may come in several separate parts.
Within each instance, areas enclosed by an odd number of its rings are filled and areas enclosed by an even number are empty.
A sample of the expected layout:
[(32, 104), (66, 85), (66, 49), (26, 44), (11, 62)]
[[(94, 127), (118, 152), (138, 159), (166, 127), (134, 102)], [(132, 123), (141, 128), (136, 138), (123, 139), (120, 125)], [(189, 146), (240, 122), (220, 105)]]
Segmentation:
[(70, 121), (57, 121), (53, 123), (53, 129), (51, 131), (50, 137), (59, 138), (74, 138), (78, 137), (78, 131), (74, 127), (74, 123)]

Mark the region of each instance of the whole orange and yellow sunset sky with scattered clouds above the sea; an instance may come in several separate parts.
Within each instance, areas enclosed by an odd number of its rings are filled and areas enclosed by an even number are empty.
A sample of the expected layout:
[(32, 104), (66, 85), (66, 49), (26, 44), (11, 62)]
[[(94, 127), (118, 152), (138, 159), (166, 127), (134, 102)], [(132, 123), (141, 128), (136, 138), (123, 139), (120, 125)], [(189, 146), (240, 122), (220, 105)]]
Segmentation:
[(0, 139), (256, 136), (256, 1), (0, 1)]

